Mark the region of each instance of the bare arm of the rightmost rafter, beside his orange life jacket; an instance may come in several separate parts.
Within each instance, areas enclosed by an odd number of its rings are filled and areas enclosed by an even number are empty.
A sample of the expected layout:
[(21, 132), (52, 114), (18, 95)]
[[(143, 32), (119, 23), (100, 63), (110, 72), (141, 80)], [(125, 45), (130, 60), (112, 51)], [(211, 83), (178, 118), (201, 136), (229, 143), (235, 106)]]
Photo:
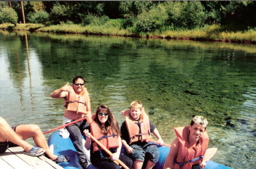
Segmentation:
[(171, 149), (167, 155), (166, 162), (164, 162), (164, 169), (172, 169), (174, 168), (175, 162), (174, 160), (177, 158), (177, 153), (179, 152), (179, 141), (175, 138), (172, 141)]

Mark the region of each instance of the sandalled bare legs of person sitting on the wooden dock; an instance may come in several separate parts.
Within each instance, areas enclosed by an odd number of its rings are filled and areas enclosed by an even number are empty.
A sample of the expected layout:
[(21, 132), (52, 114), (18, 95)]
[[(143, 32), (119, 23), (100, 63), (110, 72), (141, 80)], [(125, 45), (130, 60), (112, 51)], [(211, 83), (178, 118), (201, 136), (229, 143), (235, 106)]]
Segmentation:
[[(24, 141), (27, 138), (33, 138), (35, 145)], [(46, 142), (46, 138), (38, 125), (17, 125), (13, 128), (0, 117), (0, 153), (5, 153), (9, 147), (20, 146), (24, 149), (23, 153), (38, 157), (44, 153), (47, 157), (56, 163), (67, 162), (69, 158), (64, 155), (52, 154)]]

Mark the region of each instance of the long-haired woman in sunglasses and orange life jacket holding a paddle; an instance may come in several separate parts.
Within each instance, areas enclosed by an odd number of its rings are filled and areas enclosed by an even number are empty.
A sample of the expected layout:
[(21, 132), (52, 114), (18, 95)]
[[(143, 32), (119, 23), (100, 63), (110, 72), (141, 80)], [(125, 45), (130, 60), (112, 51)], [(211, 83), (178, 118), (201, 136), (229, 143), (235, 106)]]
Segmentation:
[(85, 148), (90, 149), (90, 161), (98, 168), (117, 168), (119, 166), (114, 160), (120, 159), (127, 167), (131, 168), (133, 161), (126, 155), (121, 154), (121, 137), (118, 122), (115, 120), (112, 112), (106, 105), (100, 105), (92, 118), (88, 120), (90, 123), (90, 132), (92, 136), (100, 141), (114, 156), (112, 158), (104, 151), (96, 142), (90, 140), (88, 129), (84, 130), (86, 141)]

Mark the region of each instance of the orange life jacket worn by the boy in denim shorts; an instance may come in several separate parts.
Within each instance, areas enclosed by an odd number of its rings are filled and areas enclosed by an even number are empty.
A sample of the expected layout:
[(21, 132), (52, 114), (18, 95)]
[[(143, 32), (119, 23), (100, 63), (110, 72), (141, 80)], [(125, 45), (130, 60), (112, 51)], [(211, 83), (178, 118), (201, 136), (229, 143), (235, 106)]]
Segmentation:
[(141, 111), (141, 118), (139, 121), (134, 120), (130, 116), (130, 110), (122, 111), (123, 116), (125, 116), (125, 123), (129, 133), (130, 144), (137, 141), (148, 142), (151, 138), (150, 136), (150, 121), (144, 108)]

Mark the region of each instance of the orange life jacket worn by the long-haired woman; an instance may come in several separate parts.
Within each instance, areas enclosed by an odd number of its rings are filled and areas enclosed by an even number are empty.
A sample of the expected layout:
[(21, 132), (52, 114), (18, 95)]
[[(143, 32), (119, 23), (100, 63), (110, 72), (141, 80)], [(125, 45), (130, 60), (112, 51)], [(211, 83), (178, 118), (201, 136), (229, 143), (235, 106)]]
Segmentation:
[[(107, 149), (119, 147), (118, 135), (109, 130), (108, 134), (104, 136), (101, 132), (100, 126), (98, 126), (97, 122), (94, 121), (95, 116), (96, 114), (94, 113), (91, 117), (89, 116), (86, 118), (90, 124), (90, 132), (92, 133), (92, 136), (100, 141)], [(97, 143), (93, 142), (93, 152), (98, 150), (99, 148)]]

